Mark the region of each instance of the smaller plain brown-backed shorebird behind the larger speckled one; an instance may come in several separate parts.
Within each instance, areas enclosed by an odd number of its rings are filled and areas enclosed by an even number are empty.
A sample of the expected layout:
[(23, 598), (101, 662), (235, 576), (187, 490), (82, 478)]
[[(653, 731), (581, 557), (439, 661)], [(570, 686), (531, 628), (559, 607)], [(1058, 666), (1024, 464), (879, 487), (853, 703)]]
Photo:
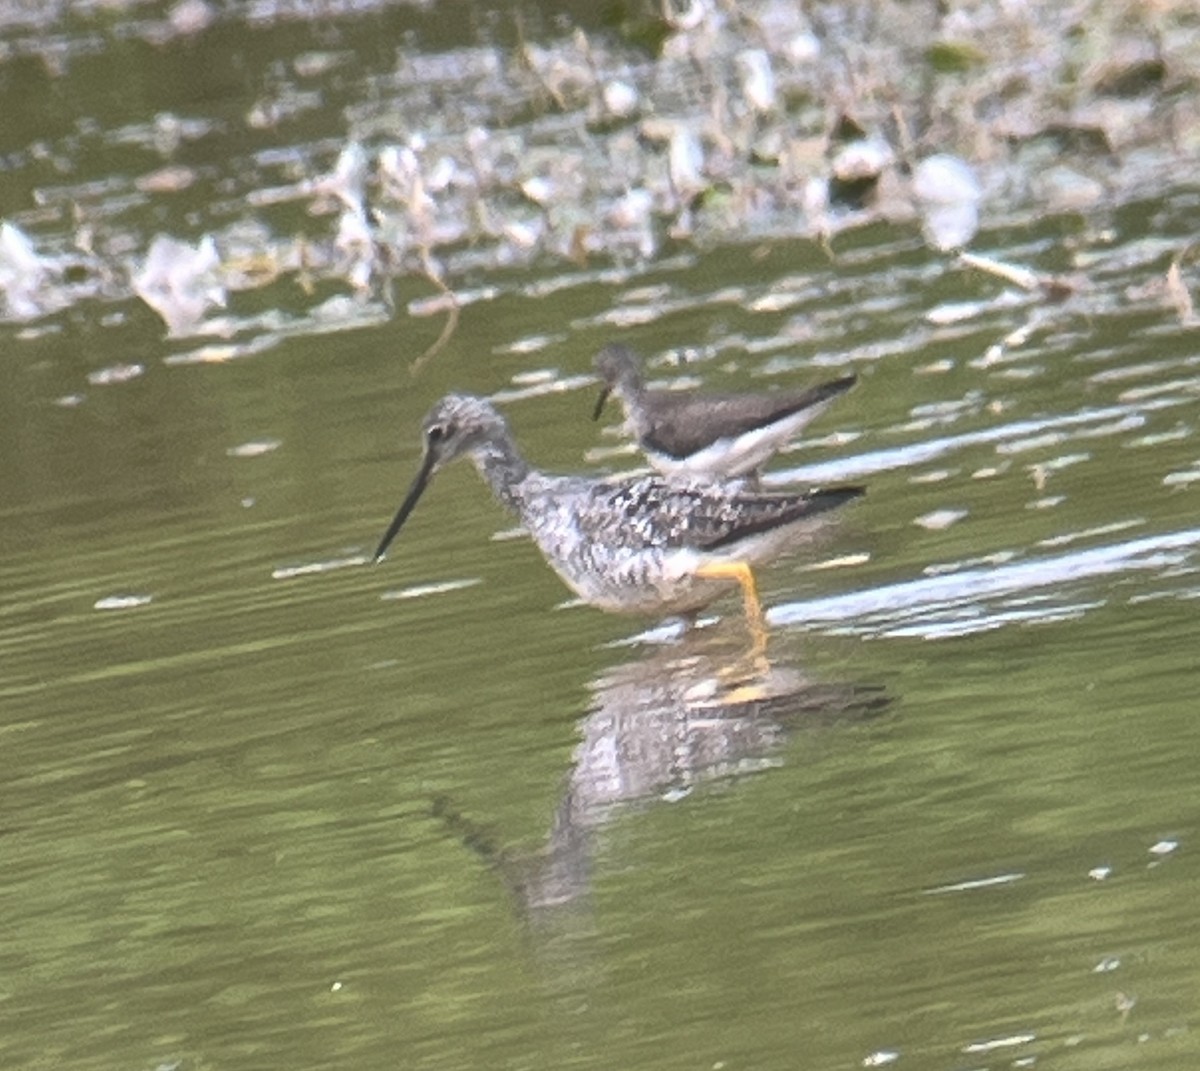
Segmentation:
[(614, 394), (625, 411), (625, 425), (650, 465), (666, 475), (730, 479), (757, 478), (788, 439), (824, 412), (839, 394), (854, 385), (842, 376), (805, 390), (752, 394), (701, 394), (652, 390), (628, 346), (606, 346), (595, 358), (604, 381), (593, 419)]

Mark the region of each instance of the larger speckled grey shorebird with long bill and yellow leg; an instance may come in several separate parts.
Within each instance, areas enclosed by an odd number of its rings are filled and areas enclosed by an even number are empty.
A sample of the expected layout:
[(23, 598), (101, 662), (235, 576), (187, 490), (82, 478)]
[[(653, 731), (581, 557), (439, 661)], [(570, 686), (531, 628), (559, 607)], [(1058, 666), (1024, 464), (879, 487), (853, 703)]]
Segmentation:
[(491, 402), (462, 394), (442, 399), (424, 432), (421, 467), (379, 540), (377, 562), (433, 474), (466, 454), (583, 602), (618, 612), (688, 616), (737, 584), (758, 654), (767, 626), (751, 567), (810, 539), (821, 514), (863, 493), (860, 487), (766, 493), (742, 481), (659, 475), (551, 475), (521, 456)]

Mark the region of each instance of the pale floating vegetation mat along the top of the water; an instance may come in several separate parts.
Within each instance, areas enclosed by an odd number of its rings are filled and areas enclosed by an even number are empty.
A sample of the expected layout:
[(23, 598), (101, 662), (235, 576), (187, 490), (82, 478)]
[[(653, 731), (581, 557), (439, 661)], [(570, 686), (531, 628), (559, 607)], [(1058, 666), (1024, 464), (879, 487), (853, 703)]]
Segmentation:
[[(385, 5), (334, 2), (326, 14), (374, 6)], [(302, 16), (184, 0), (164, 18), (137, 18), (136, 6), (122, 17), (124, 34), (161, 44), (230, 22)], [(44, 28), (54, 25), (47, 16)], [(612, 32), (575, 28), (534, 42), (520, 22), (517, 30), (508, 48), (401, 49), (391, 70), (361, 73), (344, 50), (304, 53), (272, 71), (240, 121), (278, 131), (325, 112), (325, 80), (337, 79), (352, 92), (340, 143), (264, 146), (216, 176), (176, 156), (227, 133), (228, 120), (160, 113), (88, 131), (160, 162), (40, 187), (29, 213), (0, 223), (0, 316), (38, 319), (83, 298), (137, 294), (170, 339), (217, 335), (229, 358), (262, 352), (247, 335), (277, 341), (443, 317), (437, 337), (414, 346), (425, 347), (419, 369), (469, 301), (631, 280), (716, 243), (806, 239), (836, 255), (840, 234), (886, 221), (958, 252), (947, 268), (986, 273), (1027, 295), (1032, 319), (1039, 306), (1086, 292), (1084, 276), (968, 251), (980, 229), (1144, 197), (1152, 183), (1190, 180), (1200, 156), (1200, 26), (1177, 5), (1036, 0), (914, 12), (884, 2), (847, 12), (692, 0), (648, 7)], [(52, 47), (36, 36), (14, 47), (52, 73), (71, 49), (70, 38)], [(44, 151), (70, 170), (70, 149)], [(127, 222), (148, 205), (169, 208), (181, 191), (194, 197), (214, 178), (220, 197), (199, 220), (160, 223), (157, 237)], [(185, 231), (196, 237), (185, 240)], [(1165, 276), (1128, 300), (1157, 300), (1192, 325), (1190, 252), (1171, 253)], [(1116, 267), (1086, 256), (1080, 273)], [(274, 321), (228, 311), (238, 293), (272, 286), (296, 288), (313, 307), (298, 313), (295, 294), (281, 292), (265, 299), (278, 310)], [(995, 298), (1010, 300), (1007, 289)], [(745, 301), (773, 312), (803, 298)], [(670, 311), (649, 304), (628, 316)], [(930, 319), (989, 311), (982, 299), (941, 306)], [(202, 342), (192, 360), (215, 352)]]

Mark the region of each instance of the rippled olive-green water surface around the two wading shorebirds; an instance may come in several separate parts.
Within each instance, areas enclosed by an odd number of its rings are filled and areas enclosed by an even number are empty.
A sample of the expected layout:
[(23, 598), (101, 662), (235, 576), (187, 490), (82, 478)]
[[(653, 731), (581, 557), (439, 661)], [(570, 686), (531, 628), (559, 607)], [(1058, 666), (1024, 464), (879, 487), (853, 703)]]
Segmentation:
[[(137, 256), (226, 226), (253, 152), (332, 163), (358, 76), (302, 128), (242, 116), (294, 54), (367, 78), (401, 26), (364, 18), (256, 30), (278, 55), (143, 26), (156, 77), (227, 60), (157, 106), (64, 30), (60, 125), (5, 120), (5, 211), (37, 233), (108, 183)], [(223, 132), (186, 207), (126, 204), (149, 150), (116, 132), (168, 108)], [(278, 282), (216, 339), (70, 276), (10, 317), (0, 1065), (1194, 1066), (1200, 357), (1165, 276), (1198, 205), (985, 215), (974, 247), (1069, 275), (1056, 300), (901, 222), (485, 271), (415, 376), (430, 286)], [(736, 599), (683, 638), (571, 604), (467, 465), (362, 564), (448, 390), (539, 466), (635, 463), (589, 420), (614, 339), (710, 389), (859, 375), (769, 477), (868, 495), (762, 572), (756, 687), (721, 683)]]

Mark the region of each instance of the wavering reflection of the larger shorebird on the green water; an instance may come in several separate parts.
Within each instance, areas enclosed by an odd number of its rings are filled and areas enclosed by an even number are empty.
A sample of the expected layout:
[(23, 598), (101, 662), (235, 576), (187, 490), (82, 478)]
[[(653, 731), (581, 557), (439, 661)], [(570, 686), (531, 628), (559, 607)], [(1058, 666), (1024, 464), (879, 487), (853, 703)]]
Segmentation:
[(776, 766), (793, 732), (869, 718), (888, 702), (878, 687), (818, 682), (779, 663), (730, 680), (730, 653), (737, 650), (728, 636), (690, 633), (592, 683), (590, 712), (580, 722), (582, 738), (539, 850), (499, 849), (448, 800), (436, 803), (454, 833), (496, 869), (533, 927), (569, 927), (568, 916), (586, 904), (598, 834), (614, 813)]

